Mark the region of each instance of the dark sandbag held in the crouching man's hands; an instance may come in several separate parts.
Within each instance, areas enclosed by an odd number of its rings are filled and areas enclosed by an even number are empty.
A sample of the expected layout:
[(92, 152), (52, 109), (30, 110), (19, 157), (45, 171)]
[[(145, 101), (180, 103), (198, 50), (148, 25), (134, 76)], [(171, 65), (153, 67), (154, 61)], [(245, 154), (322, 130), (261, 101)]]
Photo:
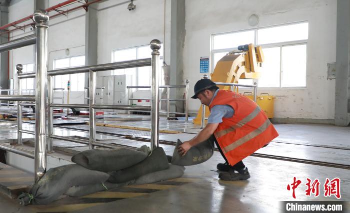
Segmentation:
[(207, 161), (214, 153), (214, 141), (211, 137), (208, 140), (191, 147), (184, 156), (181, 156), (177, 152), (178, 146), (182, 144), (182, 142), (177, 139), (177, 143), (172, 154), (171, 164), (191, 166)]

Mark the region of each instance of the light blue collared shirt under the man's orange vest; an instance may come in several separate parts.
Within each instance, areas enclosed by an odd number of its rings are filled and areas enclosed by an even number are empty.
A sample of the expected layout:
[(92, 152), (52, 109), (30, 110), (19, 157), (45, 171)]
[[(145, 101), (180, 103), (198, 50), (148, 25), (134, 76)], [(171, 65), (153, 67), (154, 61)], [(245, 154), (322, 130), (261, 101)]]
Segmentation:
[[(214, 95), (212, 96), (209, 105), (211, 104), (212, 100), (217, 95), (217, 92), (219, 90), (217, 89), (214, 92)], [(208, 124), (217, 124), (222, 123), (222, 118), (230, 118), (234, 114), (234, 110), (229, 105), (215, 105), (210, 110), (210, 115), (208, 117)]]

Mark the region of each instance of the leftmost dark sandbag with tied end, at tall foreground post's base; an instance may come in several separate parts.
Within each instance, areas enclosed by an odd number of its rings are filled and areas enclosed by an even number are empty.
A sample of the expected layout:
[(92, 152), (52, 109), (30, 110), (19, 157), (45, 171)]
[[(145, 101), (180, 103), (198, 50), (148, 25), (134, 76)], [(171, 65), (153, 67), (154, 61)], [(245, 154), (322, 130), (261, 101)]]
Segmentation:
[[(33, 185), (29, 194), (18, 197), (24, 204), (48, 204), (63, 195), (72, 186), (84, 186), (105, 182), (107, 173), (88, 170), (77, 164), (69, 164), (49, 169), (42, 178)], [(25, 198), (29, 197), (29, 200)], [(26, 203), (26, 201), (28, 201)]]

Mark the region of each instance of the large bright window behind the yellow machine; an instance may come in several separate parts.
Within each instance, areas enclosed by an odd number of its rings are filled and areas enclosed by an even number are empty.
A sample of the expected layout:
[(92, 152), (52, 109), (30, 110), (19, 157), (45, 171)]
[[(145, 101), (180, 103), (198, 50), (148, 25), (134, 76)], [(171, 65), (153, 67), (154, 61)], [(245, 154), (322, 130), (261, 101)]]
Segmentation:
[[(260, 68), (258, 87), (305, 87), (306, 43), (308, 23), (284, 24), (273, 27), (212, 35), (212, 67), (238, 45), (253, 43), (262, 47), (265, 61)], [(240, 79), (240, 84), (252, 84), (252, 79)]]

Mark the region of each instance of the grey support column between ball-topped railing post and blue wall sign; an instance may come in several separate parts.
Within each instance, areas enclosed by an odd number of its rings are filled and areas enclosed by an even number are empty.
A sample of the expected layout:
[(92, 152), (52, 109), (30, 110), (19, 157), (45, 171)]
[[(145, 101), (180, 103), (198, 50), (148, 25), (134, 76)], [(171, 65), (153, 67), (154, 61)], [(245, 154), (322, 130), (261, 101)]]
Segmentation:
[[(171, 0), (170, 26), (170, 85), (183, 85), (183, 47), (185, 36), (185, 0)], [(183, 89), (176, 88), (170, 98), (182, 98)], [(170, 111), (183, 111), (183, 103), (170, 102)]]

